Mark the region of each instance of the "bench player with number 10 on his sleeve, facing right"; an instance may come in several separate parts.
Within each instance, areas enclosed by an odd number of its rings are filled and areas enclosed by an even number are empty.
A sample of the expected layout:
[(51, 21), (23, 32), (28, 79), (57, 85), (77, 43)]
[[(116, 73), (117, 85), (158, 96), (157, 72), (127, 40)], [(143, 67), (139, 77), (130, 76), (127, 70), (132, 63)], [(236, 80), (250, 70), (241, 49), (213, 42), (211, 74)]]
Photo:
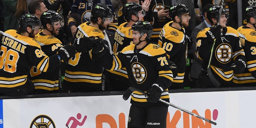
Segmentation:
[(184, 4), (175, 4), (170, 8), (169, 15), (173, 21), (164, 25), (159, 35), (158, 45), (170, 56), (169, 60), (178, 66), (178, 75), (173, 78), (170, 88), (183, 88), (188, 51), (184, 27), (188, 26), (190, 14)]

